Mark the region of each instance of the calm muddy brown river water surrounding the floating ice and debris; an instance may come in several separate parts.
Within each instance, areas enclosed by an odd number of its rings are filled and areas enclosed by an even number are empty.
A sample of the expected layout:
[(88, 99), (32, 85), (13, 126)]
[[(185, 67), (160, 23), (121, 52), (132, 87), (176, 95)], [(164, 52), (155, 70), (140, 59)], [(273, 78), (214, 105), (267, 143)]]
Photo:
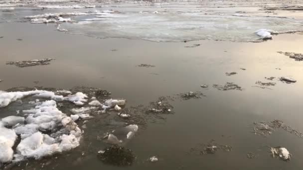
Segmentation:
[[(207, 40), (157, 43), (96, 39), (55, 29), (52, 24), (0, 24), (0, 33), (4, 36), (0, 39), (1, 90), (32, 87), (35, 81), (45, 87), (100, 87), (111, 91), (113, 97), (127, 99), (128, 106), (187, 91), (202, 91), (206, 96), (172, 101), (174, 114), (145, 128), (139, 126), (139, 133), (126, 145), (137, 156), (131, 167), (106, 166), (97, 159), (97, 152), (108, 146), (97, 140), (98, 131), (106, 125), (102, 120), (90, 120), (84, 140), (75, 150), (40, 161), (31, 160), (27, 167), (21, 165), (12, 170), (302, 169), (303, 139), (283, 130), (268, 137), (257, 136), (250, 132), (250, 125), (255, 121), (280, 119), (303, 131), (303, 62), (277, 53), (302, 53), (303, 35), (283, 34), (262, 43)], [(16, 41), (17, 38), (22, 41)], [(184, 48), (193, 44), (201, 45)], [(50, 65), (27, 68), (5, 64), (6, 61), (44, 58), (55, 60)], [(155, 67), (136, 67), (142, 63)], [(238, 74), (229, 77), (226, 72)], [(252, 87), (257, 81), (267, 81), (264, 77), (282, 76), (291, 76), (297, 83), (274, 80), (277, 84), (271, 87), (273, 90)], [(244, 90), (222, 91), (212, 87), (227, 82)], [(201, 84), (209, 87), (201, 88)], [(6, 111), (0, 110), (1, 117), (7, 115)], [(204, 156), (188, 153), (190, 148), (212, 139), (232, 146), (233, 150)], [(287, 148), (293, 155), (291, 161), (271, 158), (267, 146)], [(247, 153), (259, 156), (248, 159)], [(148, 162), (152, 156), (157, 156), (159, 161)]]

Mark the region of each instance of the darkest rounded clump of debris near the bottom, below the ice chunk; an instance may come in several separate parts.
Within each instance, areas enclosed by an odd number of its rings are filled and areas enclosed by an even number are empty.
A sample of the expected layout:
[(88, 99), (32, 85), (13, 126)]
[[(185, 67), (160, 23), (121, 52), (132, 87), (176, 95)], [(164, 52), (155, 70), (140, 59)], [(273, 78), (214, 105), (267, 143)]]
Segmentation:
[(98, 158), (104, 163), (113, 166), (131, 166), (136, 157), (130, 149), (113, 145), (98, 152)]

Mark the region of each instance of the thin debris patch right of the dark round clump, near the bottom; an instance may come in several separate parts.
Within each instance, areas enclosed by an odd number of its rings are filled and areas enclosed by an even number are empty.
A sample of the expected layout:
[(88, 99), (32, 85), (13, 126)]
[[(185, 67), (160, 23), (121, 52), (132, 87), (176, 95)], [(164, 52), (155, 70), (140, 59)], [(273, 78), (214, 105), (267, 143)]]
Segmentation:
[(217, 151), (232, 151), (232, 147), (228, 145), (222, 145), (215, 143), (214, 140), (211, 140), (207, 144), (199, 144), (198, 146), (191, 148), (189, 153), (196, 155), (208, 155), (215, 154)]

